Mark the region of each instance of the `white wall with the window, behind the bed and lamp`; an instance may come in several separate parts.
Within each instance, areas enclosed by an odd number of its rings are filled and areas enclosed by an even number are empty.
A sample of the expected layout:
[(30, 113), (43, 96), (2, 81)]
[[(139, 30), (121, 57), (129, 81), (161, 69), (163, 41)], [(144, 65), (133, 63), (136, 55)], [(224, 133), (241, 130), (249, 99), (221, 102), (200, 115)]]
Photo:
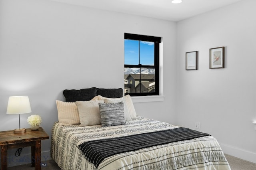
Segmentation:
[[(0, 131), (18, 128), (18, 115), (6, 115), (9, 96), (28, 95), (31, 114), (42, 117), (51, 135), (58, 121), (55, 100), (64, 101), (64, 89), (123, 87), (124, 32), (162, 37), (166, 97), (134, 105), (139, 115), (174, 123), (175, 22), (47, 0), (0, 0)], [(21, 115), (22, 127), (29, 128), (31, 114)], [(42, 155), (49, 150), (50, 140), (43, 140)], [(22, 156), (29, 153), (24, 148)], [(22, 164), (17, 159), (9, 166)]]

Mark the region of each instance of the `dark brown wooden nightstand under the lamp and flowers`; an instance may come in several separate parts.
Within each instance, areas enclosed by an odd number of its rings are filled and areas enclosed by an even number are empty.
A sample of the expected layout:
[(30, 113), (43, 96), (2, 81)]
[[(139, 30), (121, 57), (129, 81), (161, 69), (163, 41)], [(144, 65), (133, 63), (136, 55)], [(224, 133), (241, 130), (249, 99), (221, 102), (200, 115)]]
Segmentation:
[(31, 146), (32, 166), (41, 170), (41, 140), (49, 139), (42, 127), (38, 130), (26, 129), (26, 132), (15, 134), (13, 130), (0, 132), (1, 170), (7, 170), (7, 150)]

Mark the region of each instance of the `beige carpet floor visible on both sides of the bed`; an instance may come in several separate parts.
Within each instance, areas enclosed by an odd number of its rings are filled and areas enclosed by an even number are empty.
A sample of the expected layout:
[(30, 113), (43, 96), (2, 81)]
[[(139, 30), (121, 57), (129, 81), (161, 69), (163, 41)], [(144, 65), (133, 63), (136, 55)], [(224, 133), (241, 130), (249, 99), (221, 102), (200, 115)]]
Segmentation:
[[(231, 170), (256, 170), (256, 164), (225, 154)], [(42, 170), (60, 170), (54, 160), (48, 160)], [(9, 167), (8, 170), (34, 170), (31, 164)]]

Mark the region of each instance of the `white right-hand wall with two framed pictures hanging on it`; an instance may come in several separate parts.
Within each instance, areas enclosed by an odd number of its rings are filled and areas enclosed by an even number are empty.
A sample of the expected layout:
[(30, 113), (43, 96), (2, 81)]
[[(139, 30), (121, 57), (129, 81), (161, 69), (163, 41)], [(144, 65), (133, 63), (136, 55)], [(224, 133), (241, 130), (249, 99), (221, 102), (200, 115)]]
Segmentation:
[[(256, 163), (256, 1), (177, 23), (177, 123), (215, 136), (225, 153)], [(225, 46), (225, 68), (209, 69), (209, 49)], [(185, 53), (198, 51), (198, 70)]]

